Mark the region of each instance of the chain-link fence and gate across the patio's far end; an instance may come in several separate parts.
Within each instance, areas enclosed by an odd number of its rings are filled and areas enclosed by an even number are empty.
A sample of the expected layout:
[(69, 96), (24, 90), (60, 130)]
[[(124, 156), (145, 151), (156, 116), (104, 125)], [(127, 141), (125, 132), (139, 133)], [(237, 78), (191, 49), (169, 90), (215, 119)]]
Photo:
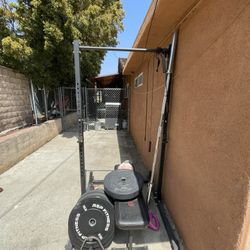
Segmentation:
[[(120, 88), (82, 88), (82, 111), (86, 129), (121, 129), (127, 120), (124, 90)], [(74, 87), (54, 90), (34, 88), (38, 123), (77, 112)]]

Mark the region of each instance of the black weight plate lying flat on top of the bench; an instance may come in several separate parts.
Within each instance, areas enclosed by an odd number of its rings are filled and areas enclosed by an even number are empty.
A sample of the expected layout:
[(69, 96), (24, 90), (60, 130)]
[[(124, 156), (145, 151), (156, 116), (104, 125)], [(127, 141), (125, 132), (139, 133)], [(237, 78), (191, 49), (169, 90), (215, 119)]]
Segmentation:
[(135, 199), (141, 192), (143, 177), (131, 170), (114, 170), (104, 178), (104, 191), (114, 200)]

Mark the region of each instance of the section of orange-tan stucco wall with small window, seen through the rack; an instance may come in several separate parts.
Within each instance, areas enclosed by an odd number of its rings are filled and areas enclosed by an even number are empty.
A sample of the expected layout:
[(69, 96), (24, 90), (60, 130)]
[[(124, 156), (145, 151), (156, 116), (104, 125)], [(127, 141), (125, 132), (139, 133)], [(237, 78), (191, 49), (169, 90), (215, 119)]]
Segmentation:
[[(164, 90), (164, 75), (161, 66), (156, 72), (157, 60), (155, 56), (146, 56), (142, 63), (130, 77), (130, 132), (137, 148), (150, 168), (159, 125), (160, 108)], [(143, 85), (134, 86), (134, 79), (143, 72)], [(151, 144), (151, 147), (150, 147)]]

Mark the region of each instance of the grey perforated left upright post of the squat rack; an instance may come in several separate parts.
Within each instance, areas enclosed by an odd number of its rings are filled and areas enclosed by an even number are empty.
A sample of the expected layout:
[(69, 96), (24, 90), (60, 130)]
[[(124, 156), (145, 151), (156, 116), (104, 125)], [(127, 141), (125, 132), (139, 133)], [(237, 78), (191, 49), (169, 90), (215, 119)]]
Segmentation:
[(76, 107), (78, 117), (78, 143), (80, 157), (80, 176), (81, 176), (81, 193), (86, 191), (86, 173), (85, 173), (85, 158), (84, 158), (84, 127), (83, 127), (83, 112), (82, 112), (82, 88), (81, 88), (81, 69), (80, 69), (80, 50), (79, 41), (73, 42), (74, 47), (74, 66), (75, 66), (75, 85), (76, 85)]

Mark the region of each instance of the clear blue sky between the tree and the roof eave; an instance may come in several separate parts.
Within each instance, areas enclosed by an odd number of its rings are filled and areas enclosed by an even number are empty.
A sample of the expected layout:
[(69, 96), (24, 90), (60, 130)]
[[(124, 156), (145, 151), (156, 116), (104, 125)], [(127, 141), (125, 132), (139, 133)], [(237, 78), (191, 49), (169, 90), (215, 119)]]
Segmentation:
[[(129, 48), (133, 46), (137, 33), (152, 0), (122, 0), (125, 17), (124, 31), (118, 35), (117, 47)], [(118, 58), (127, 57), (126, 52), (107, 52), (101, 66), (100, 75), (117, 73)]]

